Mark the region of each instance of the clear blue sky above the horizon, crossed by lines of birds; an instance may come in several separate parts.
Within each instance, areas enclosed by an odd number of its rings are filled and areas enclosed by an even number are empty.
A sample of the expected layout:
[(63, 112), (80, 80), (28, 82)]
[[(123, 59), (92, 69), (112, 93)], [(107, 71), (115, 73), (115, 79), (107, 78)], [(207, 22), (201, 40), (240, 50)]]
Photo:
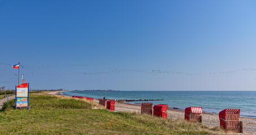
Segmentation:
[(255, 24), (256, 1), (0, 0), (0, 87), (20, 62), (32, 89), (256, 90)]

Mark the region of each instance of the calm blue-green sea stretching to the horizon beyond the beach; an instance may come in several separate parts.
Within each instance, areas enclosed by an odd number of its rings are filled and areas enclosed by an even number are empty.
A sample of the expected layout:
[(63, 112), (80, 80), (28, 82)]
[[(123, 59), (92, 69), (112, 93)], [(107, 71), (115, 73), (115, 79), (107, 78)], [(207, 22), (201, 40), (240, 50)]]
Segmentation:
[[(153, 105), (167, 104), (184, 110), (199, 106), (203, 111), (219, 113), (226, 108), (241, 109), (241, 116), (256, 118), (256, 91), (67, 91), (66, 96), (86, 96), (116, 100), (157, 100), (147, 101)], [(130, 102), (141, 104), (145, 101)]]

